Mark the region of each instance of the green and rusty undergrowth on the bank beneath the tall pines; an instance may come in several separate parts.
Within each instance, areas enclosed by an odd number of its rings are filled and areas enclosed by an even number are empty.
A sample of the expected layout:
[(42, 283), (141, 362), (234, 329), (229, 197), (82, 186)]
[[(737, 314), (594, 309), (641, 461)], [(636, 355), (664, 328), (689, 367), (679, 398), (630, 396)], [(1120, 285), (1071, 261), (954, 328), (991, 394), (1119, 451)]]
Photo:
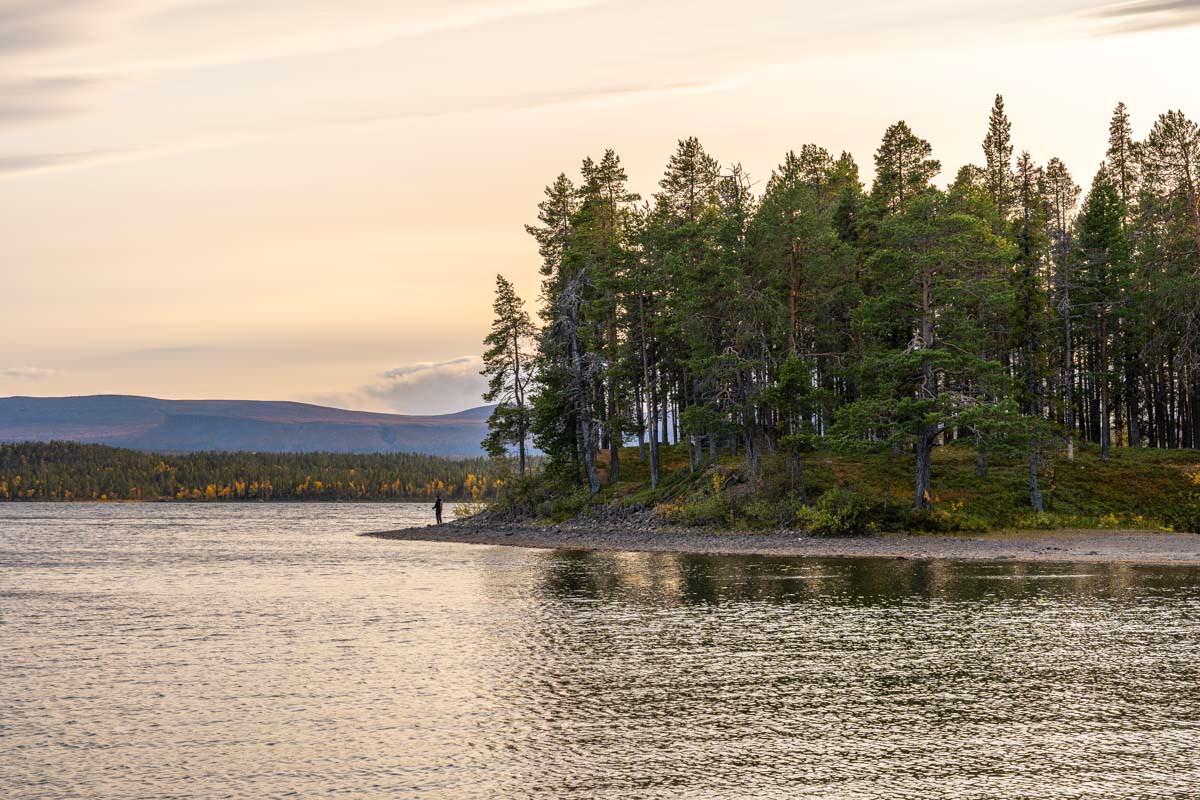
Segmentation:
[(967, 446), (940, 447), (934, 459), (932, 505), (912, 510), (912, 457), (892, 453), (809, 453), (803, 485), (782, 458), (767, 458), (757, 475), (724, 455), (692, 470), (686, 451), (662, 449), (662, 480), (650, 488), (636, 447), (622, 451), (620, 480), (595, 497), (576, 476), (539, 473), (509, 481), (493, 511), (563, 522), (653, 509), (683, 527), (736, 530), (805, 530), (817, 536), (878, 531), (982, 533), (1030, 529), (1168, 529), (1200, 531), (1200, 452), (1115, 450), (1108, 461), (1084, 446), (1073, 462), (1048, 459), (1040, 474), (1044, 511), (1028, 501), (1028, 464), (992, 457), (976, 474)]

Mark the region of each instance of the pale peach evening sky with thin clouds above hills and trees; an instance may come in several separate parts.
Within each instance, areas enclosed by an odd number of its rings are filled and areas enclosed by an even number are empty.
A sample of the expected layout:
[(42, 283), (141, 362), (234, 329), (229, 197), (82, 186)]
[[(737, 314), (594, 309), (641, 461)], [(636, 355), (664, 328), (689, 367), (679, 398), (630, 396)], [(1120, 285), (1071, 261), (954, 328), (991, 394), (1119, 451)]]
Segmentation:
[(869, 179), (904, 119), (948, 181), (1000, 92), (1086, 186), (1118, 101), (1200, 116), (1198, 44), (1200, 0), (0, 0), (0, 396), (479, 405), (584, 156)]

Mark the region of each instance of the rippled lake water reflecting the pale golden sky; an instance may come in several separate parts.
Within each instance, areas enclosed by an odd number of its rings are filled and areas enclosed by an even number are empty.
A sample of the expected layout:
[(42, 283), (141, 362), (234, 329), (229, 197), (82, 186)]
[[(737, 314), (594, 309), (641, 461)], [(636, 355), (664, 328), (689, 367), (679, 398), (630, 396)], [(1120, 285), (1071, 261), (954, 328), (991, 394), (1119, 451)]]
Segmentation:
[(0, 505), (2, 798), (1196, 798), (1200, 572)]

